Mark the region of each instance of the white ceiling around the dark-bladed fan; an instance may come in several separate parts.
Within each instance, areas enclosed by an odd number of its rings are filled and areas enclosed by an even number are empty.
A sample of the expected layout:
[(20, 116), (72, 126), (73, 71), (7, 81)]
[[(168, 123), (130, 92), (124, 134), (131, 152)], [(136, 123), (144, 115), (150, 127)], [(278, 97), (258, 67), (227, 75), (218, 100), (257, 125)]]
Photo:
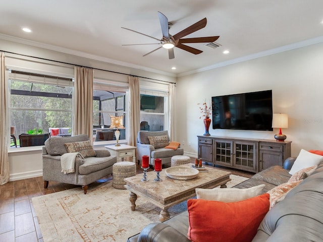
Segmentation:
[[(121, 27), (161, 39), (157, 11), (173, 23), (172, 35), (206, 17), (206, 27), (186, 37), (220, 35), (216, 42), (222, 46), (188, 44), (203, 52), (194, 55), (175, 48), (175, 59), (169, 59), (164, 48), (142, 56), (157, 45), (122, 46), (157, 41)], [(0, 16), (0, 38), (14, 36), (19, 42), (36, 41), (28, 43), (177, 75), (323, 42), (322, 0), (1, 0)], [(229, 54), (222, 53), (226, 49)]]

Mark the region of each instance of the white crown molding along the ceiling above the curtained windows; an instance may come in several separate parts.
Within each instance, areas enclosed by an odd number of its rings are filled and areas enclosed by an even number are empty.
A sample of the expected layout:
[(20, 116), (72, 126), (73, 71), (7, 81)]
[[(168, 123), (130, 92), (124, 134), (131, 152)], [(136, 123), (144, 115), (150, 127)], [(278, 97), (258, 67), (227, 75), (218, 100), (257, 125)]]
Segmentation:
[(64, 48), (64, 47), (60, 47), (60, 46), (56, 46), (56, 45), (44, 44), (44, 43), (40, 43), (37, 41), (14, 37), (11, 35), (6, 35), (6, 34), (0, 33), (0, 39), (16, 42), (16, 43), (20, 43), (20, 44), (31, 45), (31, 46), (39, 47), (39, 48), (43, 48), (43, 49), (58, 51), (58, 52), (66, 53), (66, 54), (72, 54), (72, 55), (76, 55), (79, 57), (93, 59), (95, 61), (109, 63), (109, 64), (118, 65), (118, 66), (122, 66), (122, 67), (138, 69), (138, 70), (152, 72), (152, 73), (156, 73), (156, 74), (160, 74), (160, 75), (164, 75), (164, 76), (169, 76), (169, 77), (177, 77), (177, 75), (173, 74), (173, 73), (163, 72), (163, 71), (159, 71), (159, 70), (144, 67), (144, 66), (139, 66), (139, 65), (135, 65), (135, 64), (127, 63), (127, 62), (117, 61), (116, 59), (106, 58), (103, 56), (94, 55), (94, 54), (90, 54), (90, 53), (86, 53), (86, 52), (82, 52), (82, 51), (78, 51), (78, 50), (68, 49), (68, 48)]

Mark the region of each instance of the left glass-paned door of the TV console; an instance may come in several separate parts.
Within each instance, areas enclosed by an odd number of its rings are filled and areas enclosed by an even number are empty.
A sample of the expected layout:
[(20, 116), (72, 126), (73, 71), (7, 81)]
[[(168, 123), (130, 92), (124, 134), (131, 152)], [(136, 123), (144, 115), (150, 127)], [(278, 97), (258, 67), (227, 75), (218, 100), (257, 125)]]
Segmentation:
[(233, 166), (233, 141), (214, 140), (213, 165)]

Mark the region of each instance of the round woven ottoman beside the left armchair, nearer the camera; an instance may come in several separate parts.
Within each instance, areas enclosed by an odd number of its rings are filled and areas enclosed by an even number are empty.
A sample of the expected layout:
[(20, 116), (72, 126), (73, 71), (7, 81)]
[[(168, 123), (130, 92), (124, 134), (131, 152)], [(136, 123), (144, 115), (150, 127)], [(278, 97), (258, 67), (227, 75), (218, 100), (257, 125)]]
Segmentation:
[(112, 186), (116, 189), (126, 189), (124, 178), (136, 175), (136, 164), (130, 161), (121, 161), (113, 164)]

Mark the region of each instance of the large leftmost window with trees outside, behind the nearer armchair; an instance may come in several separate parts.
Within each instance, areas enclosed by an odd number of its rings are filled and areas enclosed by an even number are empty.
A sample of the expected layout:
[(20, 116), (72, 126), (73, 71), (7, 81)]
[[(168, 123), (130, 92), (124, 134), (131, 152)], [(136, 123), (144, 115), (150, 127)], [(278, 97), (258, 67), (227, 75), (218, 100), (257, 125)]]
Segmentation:
[[(72, 127), (72, 79), (10, 71), (10, 124), (19, 135)], [(41, 144), (43, 145), (43, 144)], [(12, 148), (15, 146), (12, 146)]]

